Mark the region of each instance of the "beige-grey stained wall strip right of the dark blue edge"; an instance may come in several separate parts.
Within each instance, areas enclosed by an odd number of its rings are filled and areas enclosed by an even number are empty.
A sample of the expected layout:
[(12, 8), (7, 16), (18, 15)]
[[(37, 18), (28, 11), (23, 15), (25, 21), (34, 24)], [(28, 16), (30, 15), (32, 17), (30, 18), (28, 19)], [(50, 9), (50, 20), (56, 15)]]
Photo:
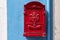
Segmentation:
[(60, 40), (60, 0), (54, 0), (54, 40)]

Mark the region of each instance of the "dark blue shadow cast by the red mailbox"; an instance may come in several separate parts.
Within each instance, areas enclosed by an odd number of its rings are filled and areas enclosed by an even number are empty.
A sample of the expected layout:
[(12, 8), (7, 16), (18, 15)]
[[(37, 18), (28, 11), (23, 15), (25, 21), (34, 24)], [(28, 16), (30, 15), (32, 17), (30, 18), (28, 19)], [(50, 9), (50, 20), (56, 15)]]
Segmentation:
[(46, 11), (46, 37), (26, 37), (27, 40), (47, 40), (48, 34), (48, 12)]

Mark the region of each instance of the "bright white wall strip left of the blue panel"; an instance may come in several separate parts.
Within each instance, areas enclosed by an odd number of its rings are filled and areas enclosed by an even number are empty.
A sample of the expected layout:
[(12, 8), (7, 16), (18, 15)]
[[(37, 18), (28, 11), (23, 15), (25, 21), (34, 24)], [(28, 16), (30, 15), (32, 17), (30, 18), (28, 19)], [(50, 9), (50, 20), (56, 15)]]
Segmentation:
[(0, 40), (7, 40), (7, 7), (6, 0), (0, 0)]

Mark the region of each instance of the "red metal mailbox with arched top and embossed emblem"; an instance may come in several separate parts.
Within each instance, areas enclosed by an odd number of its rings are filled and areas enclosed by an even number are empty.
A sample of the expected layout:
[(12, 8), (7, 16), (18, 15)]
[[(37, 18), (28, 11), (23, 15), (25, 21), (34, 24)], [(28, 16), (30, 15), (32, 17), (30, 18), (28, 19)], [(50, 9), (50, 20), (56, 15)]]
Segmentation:
[(46, 36), (45, 5), (29, 2), (24, 5), (24, 36)]

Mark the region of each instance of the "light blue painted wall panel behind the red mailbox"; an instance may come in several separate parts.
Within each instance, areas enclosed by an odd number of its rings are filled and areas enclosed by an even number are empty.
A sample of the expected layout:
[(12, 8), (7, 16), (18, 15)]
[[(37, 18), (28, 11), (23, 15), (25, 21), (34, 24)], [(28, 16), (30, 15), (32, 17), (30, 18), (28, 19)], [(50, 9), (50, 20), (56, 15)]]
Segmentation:
[[(40, 40), (40, 37), (24, 37), (24, 4), (31, 2), (32, 0), (7, 0), (7, 36), (8, 40)], [(50, 13), (50, 1), (38, 0), (46, 7), (47, 16), (47, 37), (42, 40), (51, 40), (51, 13)]]

